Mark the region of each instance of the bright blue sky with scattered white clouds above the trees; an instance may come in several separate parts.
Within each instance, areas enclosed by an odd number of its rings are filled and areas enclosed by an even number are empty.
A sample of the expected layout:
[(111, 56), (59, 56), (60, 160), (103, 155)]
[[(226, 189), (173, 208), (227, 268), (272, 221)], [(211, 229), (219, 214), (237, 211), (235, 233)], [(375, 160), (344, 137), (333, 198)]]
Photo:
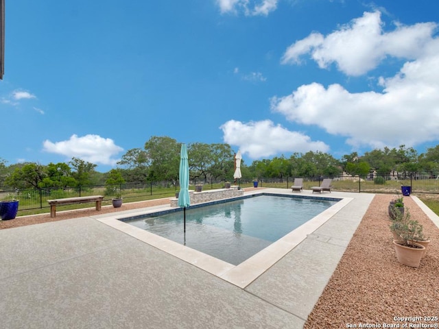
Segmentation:
[(108, 171), (151, 136), (244, 160), (439, 144), (439, 2), (6, 1), (0, 158)]

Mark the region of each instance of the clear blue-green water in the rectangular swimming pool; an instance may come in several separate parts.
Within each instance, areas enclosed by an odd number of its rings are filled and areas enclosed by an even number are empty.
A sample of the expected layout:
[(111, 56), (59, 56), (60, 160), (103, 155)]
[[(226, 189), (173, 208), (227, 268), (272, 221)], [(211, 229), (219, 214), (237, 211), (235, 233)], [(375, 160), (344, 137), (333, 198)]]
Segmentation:
[(298, 228), (335, 201), (262, 195), (183, 212), (127, 221), (166, 239), (239, 265)]

